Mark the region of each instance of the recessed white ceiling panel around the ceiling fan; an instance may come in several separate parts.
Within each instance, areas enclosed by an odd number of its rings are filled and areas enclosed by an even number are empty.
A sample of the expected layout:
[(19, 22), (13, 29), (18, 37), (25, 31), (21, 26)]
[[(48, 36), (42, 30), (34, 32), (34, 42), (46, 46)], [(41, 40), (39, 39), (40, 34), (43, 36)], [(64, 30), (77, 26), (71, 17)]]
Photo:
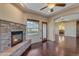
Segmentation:
[(54, 7), (54, 11), (53, 12), (49, 12), (50, 9), (46, 8), (42, 11), (40, 11), (40, 9), (44, 6), (47, 6), (47, 3), (23, 3), (22, 6), (28, 11), (28, 12), (32, 12), (32, 13), (37, 13), (40, 15), (43, 15), (45, 17), (48, 17), (50, 15), (53, 15), (55, 12), (61, 11), (64, 8), (67, 8), (69, 6), (72, 6), (74, 3), (66, 3), (65, 7)]

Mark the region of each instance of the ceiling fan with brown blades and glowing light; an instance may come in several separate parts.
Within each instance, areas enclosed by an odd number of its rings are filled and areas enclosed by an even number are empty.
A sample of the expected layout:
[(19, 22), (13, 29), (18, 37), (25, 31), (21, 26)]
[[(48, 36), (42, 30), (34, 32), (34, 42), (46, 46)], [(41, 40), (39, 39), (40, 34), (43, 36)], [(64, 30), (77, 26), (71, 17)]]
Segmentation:
[(56, 7), (56, 6), (64, 7), (65, 5), (66, 5), (65, 3), (47, 3), (47, 6), (41, 8), (40, 11), (46, 8), (49, 8), (50, 12), (53, 12), (53, 7)]

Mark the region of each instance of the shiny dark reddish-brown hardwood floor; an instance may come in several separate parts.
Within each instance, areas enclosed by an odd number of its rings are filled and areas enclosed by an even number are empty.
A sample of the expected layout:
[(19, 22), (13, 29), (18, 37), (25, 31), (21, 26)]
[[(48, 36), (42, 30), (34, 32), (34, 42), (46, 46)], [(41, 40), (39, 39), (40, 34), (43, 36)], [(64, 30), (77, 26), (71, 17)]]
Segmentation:
[(78, 56), (79, 49), (64, 47), (62, 42), (39, 42), (31, 45), (31, 48), (26, 50), (22, 56)]

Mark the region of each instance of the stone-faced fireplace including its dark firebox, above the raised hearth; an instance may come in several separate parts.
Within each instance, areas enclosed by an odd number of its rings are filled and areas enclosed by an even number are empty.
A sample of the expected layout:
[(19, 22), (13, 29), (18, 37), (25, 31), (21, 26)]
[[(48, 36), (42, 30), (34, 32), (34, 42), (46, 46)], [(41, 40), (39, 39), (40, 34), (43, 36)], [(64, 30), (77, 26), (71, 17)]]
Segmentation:
[(26, 41), (26, 25), (0, 20), (0, 52)]

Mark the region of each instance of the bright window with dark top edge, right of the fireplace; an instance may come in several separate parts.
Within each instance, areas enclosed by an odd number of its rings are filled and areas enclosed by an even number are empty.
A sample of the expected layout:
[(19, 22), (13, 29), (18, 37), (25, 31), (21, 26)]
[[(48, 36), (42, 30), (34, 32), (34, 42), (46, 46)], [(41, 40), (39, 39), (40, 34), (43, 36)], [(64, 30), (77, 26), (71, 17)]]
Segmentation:
[(34, 20), (27, 20), (27, 32), (29, 34), (37, 33), (39, 30), (39, 22)]

